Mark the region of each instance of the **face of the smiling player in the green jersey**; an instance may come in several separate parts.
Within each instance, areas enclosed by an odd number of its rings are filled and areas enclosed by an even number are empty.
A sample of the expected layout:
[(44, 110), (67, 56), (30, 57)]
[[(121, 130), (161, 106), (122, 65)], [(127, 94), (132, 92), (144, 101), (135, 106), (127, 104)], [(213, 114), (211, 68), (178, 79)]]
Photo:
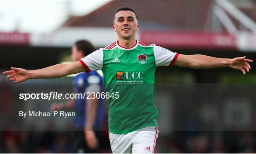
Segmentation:
[(113, 29), (119, 37), (126, 40), (135, 37), (138, 28), (136, 15), (132, 11), (119, 11), (115, 15)]

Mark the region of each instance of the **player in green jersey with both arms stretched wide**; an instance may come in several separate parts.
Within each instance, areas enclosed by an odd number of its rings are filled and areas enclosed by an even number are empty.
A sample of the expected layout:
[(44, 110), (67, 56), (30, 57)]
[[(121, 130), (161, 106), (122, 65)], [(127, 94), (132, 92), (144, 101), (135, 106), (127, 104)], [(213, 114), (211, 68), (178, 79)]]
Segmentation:
[(251, 68), (246, 57), (234, 59), (174, 53), (155, 44), (136, 40), (138, 17), (133, 9), (120, 8), (113, 18), (118, 41), (92, 52), (71, 64), (57, 64), (37, 70), (13, 68), (9, 74), (15, 83), (33, 78), (64, 77), (82, 71), (101, 69), (106, 90), (113, 94), (109, 102), (110, 145), (113, 153), (153, 153), (157, 129), (154, 105), (154, 73), (157, 66), (190, 68), (230, 67), (243, 74)]

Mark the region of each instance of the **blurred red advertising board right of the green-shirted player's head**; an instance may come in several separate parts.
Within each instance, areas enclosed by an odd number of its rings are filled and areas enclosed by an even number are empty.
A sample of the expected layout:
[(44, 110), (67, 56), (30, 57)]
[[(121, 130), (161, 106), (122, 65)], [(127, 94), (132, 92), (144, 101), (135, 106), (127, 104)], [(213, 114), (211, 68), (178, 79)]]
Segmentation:
[(236, 36), (230, 34), (142, 31), (140, 40), (176, 49), (237, 50)]

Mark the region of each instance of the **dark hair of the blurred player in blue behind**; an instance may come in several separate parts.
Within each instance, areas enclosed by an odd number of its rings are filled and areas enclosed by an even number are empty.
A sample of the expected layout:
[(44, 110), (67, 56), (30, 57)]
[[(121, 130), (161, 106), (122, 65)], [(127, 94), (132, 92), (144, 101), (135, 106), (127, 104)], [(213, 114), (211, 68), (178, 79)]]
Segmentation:
[(82, 51), (84, 56), (87, 56), (95, 50), (94, 46), (86, 40), (79, 40), (75, 43), (78, 51)]

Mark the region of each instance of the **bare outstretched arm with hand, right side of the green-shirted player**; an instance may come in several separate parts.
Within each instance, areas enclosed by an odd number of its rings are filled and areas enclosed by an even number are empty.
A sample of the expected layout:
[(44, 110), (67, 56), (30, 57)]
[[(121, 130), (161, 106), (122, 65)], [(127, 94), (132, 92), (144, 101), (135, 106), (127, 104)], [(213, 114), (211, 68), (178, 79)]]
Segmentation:
[(183, 55), (180, 54), (176, 59), (174, 66), (189, 67), (189, 68), (222, 68), (230, 67), (241, 70), (243, 74), (249, 72), (251, 66), (249, 62), (253, 60), (246, 59), (246, 57), (237, 57), (233, 59), (215, 58), (200, 54)]

